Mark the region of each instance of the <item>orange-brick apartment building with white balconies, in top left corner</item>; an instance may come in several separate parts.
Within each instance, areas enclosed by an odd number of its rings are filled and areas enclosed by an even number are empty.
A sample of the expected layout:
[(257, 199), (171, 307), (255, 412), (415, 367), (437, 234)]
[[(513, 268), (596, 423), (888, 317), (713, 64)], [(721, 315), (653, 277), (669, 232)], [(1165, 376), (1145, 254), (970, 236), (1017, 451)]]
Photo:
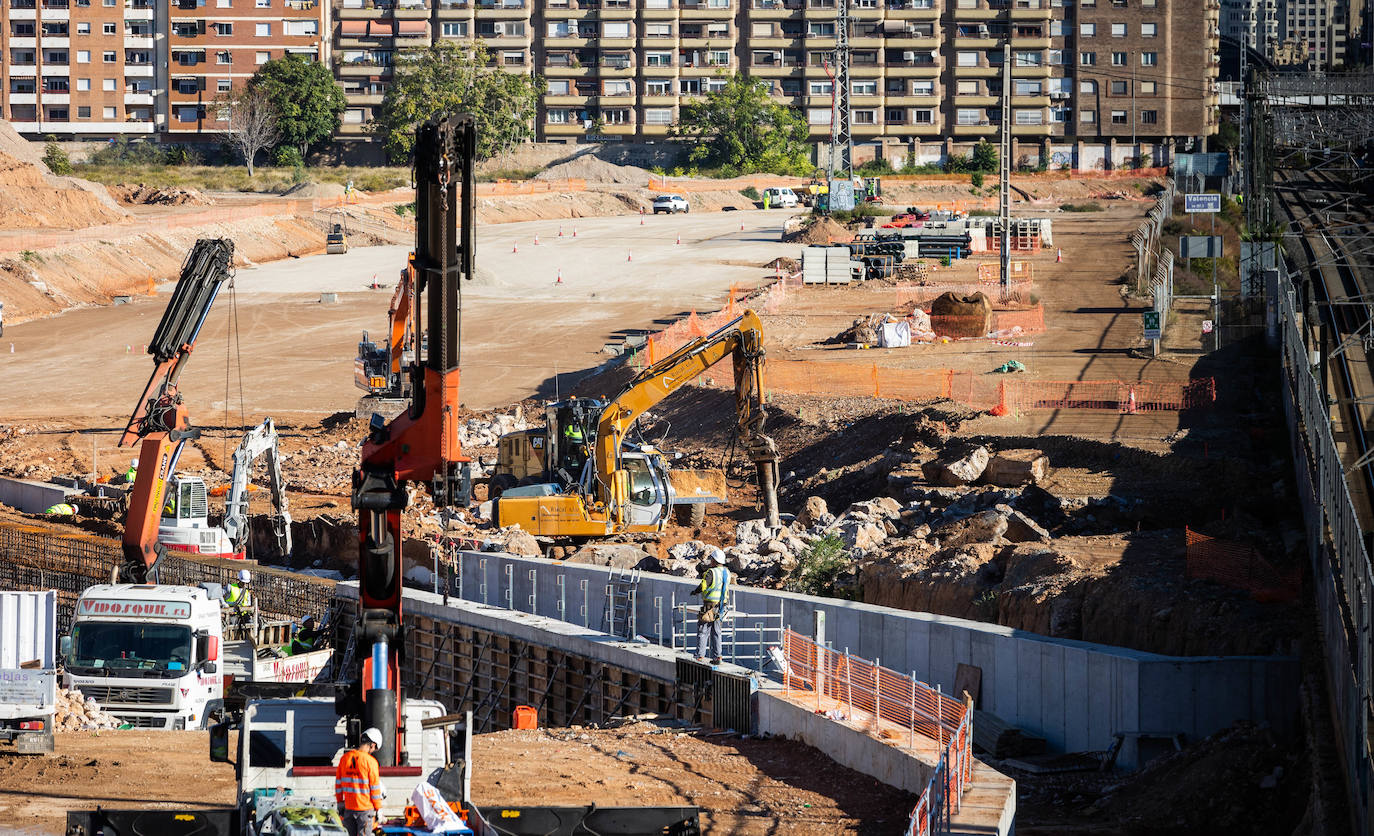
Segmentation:
[(32, 135), (151, 135), (154, 0), (4, 0), (0, 114)]

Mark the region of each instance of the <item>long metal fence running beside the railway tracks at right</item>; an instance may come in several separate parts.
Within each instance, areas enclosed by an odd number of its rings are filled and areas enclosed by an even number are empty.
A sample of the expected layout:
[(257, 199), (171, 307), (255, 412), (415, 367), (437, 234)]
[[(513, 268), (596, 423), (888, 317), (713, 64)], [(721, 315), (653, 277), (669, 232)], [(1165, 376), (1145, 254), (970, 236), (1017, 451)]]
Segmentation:
[(1336, 742), (1345, 767), (1356, 832), (1369, 833), (1374, 825), (1369, 738), (1374, 704), (1370, 671), (1374, 572), (1345, 481), (1347, 469), (1331, 436), (1329, 403), (1320, 381), (1312, 374), (1311, 355), (1303, 340), (1297, 292), (1285, 268), (1279, 270), (1279, 293), (1272, 301), (1281, 329), (1283, 408), (1307, 524)]

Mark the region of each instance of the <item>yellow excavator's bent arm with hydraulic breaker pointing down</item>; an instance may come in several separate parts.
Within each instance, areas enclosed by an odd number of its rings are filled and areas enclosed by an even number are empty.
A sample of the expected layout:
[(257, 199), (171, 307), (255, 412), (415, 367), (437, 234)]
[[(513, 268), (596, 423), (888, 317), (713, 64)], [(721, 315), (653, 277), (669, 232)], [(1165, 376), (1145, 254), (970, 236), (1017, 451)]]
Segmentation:
[(625, 433), (654, 404), (725, 358), (734, 360), (736, 428), (758, 472), (764, 516), (771, 528), (779, 525), (778, 446), (764, 434), (764, 334), (753, 311), (745, 311), (717, 331), (692, 340), (644, 368), (606, 404), (596, 426), (596, 478), (616, 525), (628, 522), (629, 473), (621, 468)]

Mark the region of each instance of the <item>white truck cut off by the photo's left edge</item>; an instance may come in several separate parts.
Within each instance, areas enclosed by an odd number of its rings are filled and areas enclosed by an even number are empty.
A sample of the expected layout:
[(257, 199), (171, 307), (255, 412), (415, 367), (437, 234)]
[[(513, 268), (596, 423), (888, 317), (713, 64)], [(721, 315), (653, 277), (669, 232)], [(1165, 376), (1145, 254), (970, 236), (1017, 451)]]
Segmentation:
[(52, 751), (58, 708), (58, 594), (0, 591), (0, 742)]

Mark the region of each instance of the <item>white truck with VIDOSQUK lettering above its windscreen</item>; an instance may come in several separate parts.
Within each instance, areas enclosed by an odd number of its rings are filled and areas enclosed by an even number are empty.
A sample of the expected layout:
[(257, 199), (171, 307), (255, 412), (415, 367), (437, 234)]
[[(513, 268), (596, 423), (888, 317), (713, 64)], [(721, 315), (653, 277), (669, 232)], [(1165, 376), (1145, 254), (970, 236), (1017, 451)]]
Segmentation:
[(232, 679), (313, 682), (333, 654), (225, 642), (221, 601), (206, 588), (129, 583), (81, 593), (60, 646), (67, 686), (139, 729), (203, 729)]

